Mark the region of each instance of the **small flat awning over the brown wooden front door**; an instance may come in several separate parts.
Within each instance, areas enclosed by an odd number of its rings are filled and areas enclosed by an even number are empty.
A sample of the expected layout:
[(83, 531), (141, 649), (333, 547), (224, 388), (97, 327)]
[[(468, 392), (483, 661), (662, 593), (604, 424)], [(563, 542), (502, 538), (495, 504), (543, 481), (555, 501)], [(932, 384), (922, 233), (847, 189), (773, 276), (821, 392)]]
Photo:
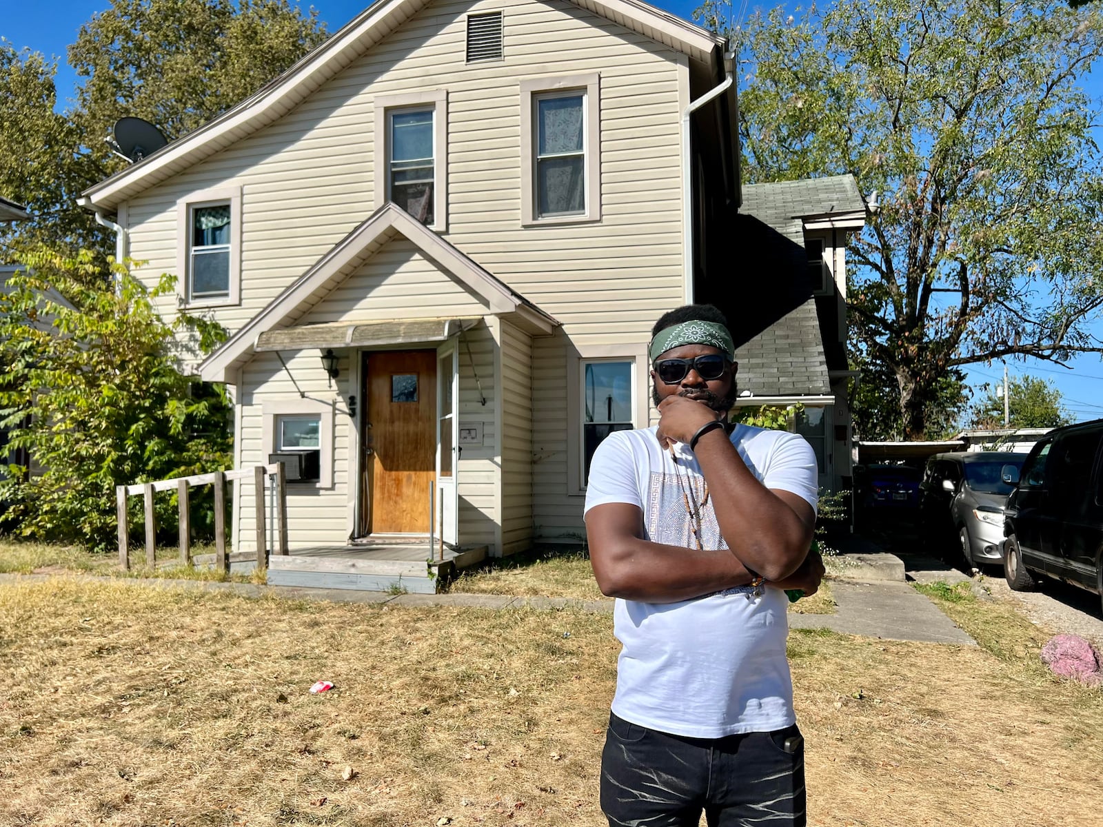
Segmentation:
[(394, 319), (386, 322), (328, 322), (269, 330), (257, 336), (254, 350), (302, 351), (308, 347), (382, 347), (384, 345), (443, 342), (470, 330), (480, 316)]

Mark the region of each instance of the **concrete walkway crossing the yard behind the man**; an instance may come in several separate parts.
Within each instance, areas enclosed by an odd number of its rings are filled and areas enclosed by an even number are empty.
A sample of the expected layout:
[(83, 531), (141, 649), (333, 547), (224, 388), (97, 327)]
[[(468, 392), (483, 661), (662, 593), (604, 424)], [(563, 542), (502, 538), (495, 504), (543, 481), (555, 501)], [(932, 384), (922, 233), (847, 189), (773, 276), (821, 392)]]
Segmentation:
[[(895, 567), (890, 567), (893, 569)], [(863, 571), (868, 573), (868, 569)], [(612, 613), (613, 601), (567, 598), (521, 598), (505, 594), (389, 594), (347, 589), (219, 583), (202, 580), (169, 580), (94, 577), (90, 574), (0, 574), (0, 586), (44, 582), (64, 578), (76, 582), (114, 583), (135, 588), (190, 589), (231, 592), (246, 598), (324, 600), (334, 603), (371, 603), (394, 606), (463, 606), (474, 609), (576, 610)], [(791, 629), (829, 629), (840, 634), (880, 637), (890, 641), (975, 645), (972, 637), (953, 624), (931, 601), (902, 580), (868, 582), (833, 580), (832, 593), (837, 614), (790, 614)]]

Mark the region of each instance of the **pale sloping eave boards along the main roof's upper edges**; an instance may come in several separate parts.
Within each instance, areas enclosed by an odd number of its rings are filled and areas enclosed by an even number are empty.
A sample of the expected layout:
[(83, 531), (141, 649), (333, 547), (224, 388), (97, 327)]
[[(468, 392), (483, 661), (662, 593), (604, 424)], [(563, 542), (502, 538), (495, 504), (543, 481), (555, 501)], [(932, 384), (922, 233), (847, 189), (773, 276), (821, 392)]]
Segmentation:
[[(700, 63), (716, 60), (726, 43), (724, 37), (642, 0), (568, 1)], [(142, 190), (272, 123), (429, 2), (431, 0), (377, 0), (253, 96), (151, 155), (88, 187), (77, 203), (84, 207), (113, 210)]]

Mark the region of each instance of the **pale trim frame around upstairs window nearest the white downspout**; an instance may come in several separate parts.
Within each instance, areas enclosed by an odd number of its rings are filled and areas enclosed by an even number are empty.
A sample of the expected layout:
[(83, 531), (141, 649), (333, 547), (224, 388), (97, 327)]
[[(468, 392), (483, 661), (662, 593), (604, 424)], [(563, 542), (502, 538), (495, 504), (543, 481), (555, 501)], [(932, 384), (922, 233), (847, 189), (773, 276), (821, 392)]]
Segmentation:
[[(586, 211), (577, 215), (542, 218), (536, 214), (536, 118), (533, 101), (545, 93), (578, 90), (585, 95), (582, 108), (582, 149), (586, 152)], [(580, 224), (601, 221), (601, 76), (565, 75), (521, 80), (521, 224)]]

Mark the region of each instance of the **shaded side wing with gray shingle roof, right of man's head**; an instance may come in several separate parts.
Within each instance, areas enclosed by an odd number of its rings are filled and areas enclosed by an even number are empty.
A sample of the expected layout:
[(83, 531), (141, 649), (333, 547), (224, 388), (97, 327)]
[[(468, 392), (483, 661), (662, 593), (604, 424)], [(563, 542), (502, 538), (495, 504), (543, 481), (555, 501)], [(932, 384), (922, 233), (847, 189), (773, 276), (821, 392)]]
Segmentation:
[(846, 245), (866, 222), (853, 175), (745, 184), (735, 296), (714, 297), (737, 336), (741, 405), (792, 405), (816, 452), (820, 485), (849, 488), (853, 429), (846, 358)]

